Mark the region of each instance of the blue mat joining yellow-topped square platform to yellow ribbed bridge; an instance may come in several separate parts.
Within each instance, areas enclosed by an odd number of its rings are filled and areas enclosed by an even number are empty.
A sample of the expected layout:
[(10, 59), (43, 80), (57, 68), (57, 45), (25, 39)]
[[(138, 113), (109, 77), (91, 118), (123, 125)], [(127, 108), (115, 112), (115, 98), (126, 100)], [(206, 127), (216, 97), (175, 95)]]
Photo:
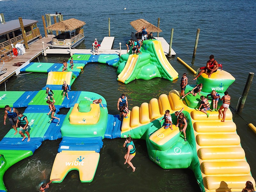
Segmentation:
[(121, 121), (119, 120), (119, 115), (109, 115), (107, 129), (104, 138), (115, 139), (121, 138)]

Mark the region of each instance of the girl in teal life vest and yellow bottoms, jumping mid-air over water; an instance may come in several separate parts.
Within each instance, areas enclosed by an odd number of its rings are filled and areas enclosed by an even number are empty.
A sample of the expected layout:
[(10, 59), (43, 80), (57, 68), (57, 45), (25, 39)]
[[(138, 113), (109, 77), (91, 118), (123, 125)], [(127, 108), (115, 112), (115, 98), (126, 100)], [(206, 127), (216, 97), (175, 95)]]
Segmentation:
[(124, 141), (123, 147), (125, 147), (127, 150), (127, 153), (124, 155), (124, 159), (125, 159), (124, 164), (128, 163), (129, 165), (127, 168), (131, 166), (132, 172), (135, 172), (136, 167), (133, 166), (131, 160), (136, 154), (136, 149), (131, 137), (126, 138), (126, 140)]

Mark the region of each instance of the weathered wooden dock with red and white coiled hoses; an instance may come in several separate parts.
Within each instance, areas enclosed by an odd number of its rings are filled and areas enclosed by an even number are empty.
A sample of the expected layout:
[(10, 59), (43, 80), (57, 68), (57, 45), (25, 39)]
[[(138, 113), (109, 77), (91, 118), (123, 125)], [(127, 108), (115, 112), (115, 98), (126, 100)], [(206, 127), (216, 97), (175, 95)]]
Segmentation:
[[(7, 72), (0, 76), (0, 84), (4, 82), (4, 79), (6, 80), (15, 74), (19, 74), (20, 68), (28, 65), (33, 59), (40, 55), (43, 50), (42, 42), (44, 42), (44, 47), (48, 47), (51, 44), (51, 37), (43, 37), (42, 39), (39, 39), (28, 46), (29, 49), (26, 49), (26, 53), (24, 53), (24, 55), (17, 56), (11, 61), (4, 63), (3, 69), (7, 68)], [(17, 66), (17, 63), (19, 62), (24, 63), (21, 66)], [(2, 67), (2, 65), (3, 63), (1, 62), (0, 67)]]

